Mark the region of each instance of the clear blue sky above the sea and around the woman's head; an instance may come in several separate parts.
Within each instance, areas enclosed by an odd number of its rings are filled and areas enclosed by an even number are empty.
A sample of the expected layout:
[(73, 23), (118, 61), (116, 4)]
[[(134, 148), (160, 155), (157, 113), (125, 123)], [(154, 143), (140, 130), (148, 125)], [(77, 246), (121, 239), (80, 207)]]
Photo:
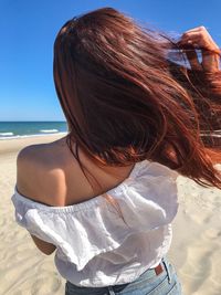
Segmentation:
[(220, 0), (0, 0), (0, 120), (64, 120), (52, 76), (54, 39), (66, 20), (102, 7), (170, 32), (204, 25), (221, 46)]

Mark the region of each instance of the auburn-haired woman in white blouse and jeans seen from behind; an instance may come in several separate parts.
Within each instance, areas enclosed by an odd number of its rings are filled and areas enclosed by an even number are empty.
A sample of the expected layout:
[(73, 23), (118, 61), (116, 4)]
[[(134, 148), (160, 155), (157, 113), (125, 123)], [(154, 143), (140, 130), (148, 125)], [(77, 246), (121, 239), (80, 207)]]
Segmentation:
[(181, 294), (167, 260), (176, 178), (221, 188), (209, 149), (221, 126), (219, 54), (203, 27), (175, 42), (112, 8), (59, 32), (69, 133), (20, 151), (12, 201), (36, 246), (56, 250), (65, 294)]

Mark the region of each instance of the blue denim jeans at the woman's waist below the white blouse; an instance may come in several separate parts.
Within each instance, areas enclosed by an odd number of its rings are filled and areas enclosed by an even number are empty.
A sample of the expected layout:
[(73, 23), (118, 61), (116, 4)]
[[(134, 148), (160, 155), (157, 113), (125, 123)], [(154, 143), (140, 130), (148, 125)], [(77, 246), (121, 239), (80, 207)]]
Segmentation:
[(76, 286), (66, 281), (65, 295), (181, 295), (181, 284), (167, 257), (161, 261), (164, 272), (145, 271), (135, 281), (105, 287)]

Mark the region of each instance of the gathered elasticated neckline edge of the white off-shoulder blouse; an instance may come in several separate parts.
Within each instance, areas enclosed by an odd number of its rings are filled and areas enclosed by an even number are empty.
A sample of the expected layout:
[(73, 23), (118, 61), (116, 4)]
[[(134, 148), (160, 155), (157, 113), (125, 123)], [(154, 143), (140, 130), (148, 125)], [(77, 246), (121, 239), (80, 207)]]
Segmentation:
[[(122, 181), (117, 187), (106, 191), (107, 194), (115, 194), (118, 192), (124, 191), (124, 189), (126, 189), (126, 185), (130, 179), (135, 179), (139, 169), (144, 166), (147, 166), (149, 161), (148, 160), (143, 160), (139, 162), (136, 162), (134, 168), (131, 169), (129, 176)], [(70, 204), (70, 206), (63, 206), (63, 207), (53, 207), (53, 206), (48, 206), (48, 204), (43, 204), (36, 201), (33, 201), (24, 196), (22, 196), (21, 193), (19, 193), (17, 186), (14, 187), (14, 194), (17, 196), (18, 200), (21, 200), (22, 202), (27, 203), (27, 204), (31, 204), (33, 208), (41, 208), (41, 210), (43, 211), (53, 211), (53, 212), (73, 212), (73, 211), (82, 211), (82, 210), (87, 210), (92, 207), (96, 207), (99, 203), (104, 202), (104, 197), (102, 197), (102, 194), (96, 196), (90, 200), (83, 201), (81, 203), (76, 203), (76, 204)]]

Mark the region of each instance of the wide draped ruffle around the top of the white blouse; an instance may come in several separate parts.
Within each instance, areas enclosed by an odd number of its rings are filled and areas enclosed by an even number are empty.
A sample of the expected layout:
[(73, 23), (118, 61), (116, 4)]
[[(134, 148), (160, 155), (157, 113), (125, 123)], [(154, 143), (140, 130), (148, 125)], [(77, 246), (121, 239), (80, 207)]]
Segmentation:
[(133, 233), (169, 224), (178, 208), (177, 176), (158, 164), (138, 164), (126, 181), (108, 191), (124, 220), (102, 196), (74, 206), (49, 207), (14, 189), (15, 221), (54, 244), (59, 259), (81, 271), (94, 256), (119, 247)]

